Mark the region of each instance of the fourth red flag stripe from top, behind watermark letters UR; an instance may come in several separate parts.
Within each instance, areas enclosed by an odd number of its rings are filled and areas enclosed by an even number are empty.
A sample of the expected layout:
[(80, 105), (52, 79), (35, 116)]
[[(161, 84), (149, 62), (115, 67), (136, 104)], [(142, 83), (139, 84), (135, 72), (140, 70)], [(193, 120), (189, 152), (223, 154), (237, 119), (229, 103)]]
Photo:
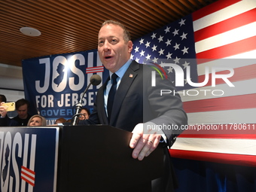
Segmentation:
[[(232, 62), (232, 59), (228, 59), (227, 62)], [(256, 64), (239, 67), (233, 70), (234, 70), (233, 76), (228, 78), (230, 82), (244, 81), (244, 80), (253, 79), (256, 77)], [(230, 74), (230, 71), (226, 70), (222, 72), (215, 72), (215, 74), (217, 75)], [(199, 83), (203, 82), (205, 78), (206, 78), (206, 75), (198, 76), (198, 82)], [(222, 78), (216, 78), (215, 84), (226, 84), (226, 82)], [(205, 86), (211, 86), (211, 85), (212, 85), (212, 73), (209, 74), (209, 81)]]

